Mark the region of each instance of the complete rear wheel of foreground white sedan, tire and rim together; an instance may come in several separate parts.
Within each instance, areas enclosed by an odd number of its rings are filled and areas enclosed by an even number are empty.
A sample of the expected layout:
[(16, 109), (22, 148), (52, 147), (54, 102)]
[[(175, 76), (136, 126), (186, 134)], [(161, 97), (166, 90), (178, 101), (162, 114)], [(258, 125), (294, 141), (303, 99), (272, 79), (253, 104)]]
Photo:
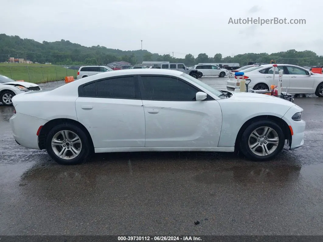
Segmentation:
[[(63, 135), (67, 135), (67, 139), (64, 139)], [(53, 139), (55, 139), (54, 142), (52, 142)], [(71, 146), (68, 141), (73, 139), (76, 139), (76, 141)], [(46, 150), (49, 156), (57, 163), (75, 165), (81, 163), (89, 155), (91, 148), (88, 138), (81, 128), (64, 123), (55, 126), (49, 131), (46, 140)], [(62, 157), (59, 157), (61, 152), (63, 152)]]

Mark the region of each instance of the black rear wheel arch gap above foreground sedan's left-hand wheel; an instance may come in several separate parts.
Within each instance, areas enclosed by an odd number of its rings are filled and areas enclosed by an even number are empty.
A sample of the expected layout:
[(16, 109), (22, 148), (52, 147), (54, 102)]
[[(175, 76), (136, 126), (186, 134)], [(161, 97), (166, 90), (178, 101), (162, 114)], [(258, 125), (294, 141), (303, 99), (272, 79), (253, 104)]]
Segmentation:
[(47, 123), (44, 124), (44, 126), (41, 128), (41, 130), (39, 132), (39, 135), (38, 135), (39, 149), (41, 149), (41, 150), (46, 149), (46, 138), (47, 138), (48, 132), (53, 127), (55, 127), (56, 125), (64, 124), (64, 123), (76, 125), (80, 129), (82, 129), (85, 132), (85, 134), (86, 134), (86, 136), (87, 136), (87, 138), (89, 140), (89, 144), (90, 144), (92, 150), (94, 150), (93, 141), (92, 141), (92, 138), (91, 138), (91, 135), (90, 135), (88, 129), (83, 124), (81, 124), (80, 122), (78, 122), (76, 120), (72, 120), (72, 119), (66, 119), (66, 118), (53, 119), (53, 120), (50, 120), (50, 121), (48, 121)]

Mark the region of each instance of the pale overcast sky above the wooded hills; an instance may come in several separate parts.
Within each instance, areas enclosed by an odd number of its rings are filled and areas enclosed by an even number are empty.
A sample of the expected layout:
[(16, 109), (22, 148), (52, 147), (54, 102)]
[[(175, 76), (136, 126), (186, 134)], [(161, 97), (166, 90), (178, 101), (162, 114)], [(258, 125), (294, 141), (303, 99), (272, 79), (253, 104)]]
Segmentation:
[[(223, 57), (288, 49), (323, 55), (323, 2), (318, 0), (0, 0), (0, 33), (36, 41), (184, 57)], [(306, 24), (228, 24), (233, 19), (306, 19)]]

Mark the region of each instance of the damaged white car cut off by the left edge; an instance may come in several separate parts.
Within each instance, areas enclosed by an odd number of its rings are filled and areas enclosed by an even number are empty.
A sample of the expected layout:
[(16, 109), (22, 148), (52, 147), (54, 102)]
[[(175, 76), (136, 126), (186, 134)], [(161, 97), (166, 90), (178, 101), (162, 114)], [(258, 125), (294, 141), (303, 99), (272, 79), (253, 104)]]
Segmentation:
[(34, 83), (15, 81), (0, 75), (0, 102), (5, 106), (12, 106), (12, 97), (27, 91), (39, 91), (41, 88)]

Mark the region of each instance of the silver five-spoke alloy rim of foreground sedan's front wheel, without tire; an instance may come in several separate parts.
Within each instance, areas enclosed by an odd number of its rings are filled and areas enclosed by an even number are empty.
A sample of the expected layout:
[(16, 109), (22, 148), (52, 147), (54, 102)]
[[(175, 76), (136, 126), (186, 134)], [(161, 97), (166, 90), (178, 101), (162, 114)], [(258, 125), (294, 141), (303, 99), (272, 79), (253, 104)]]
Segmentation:
[(248, 145), (252, 153), (259, 156), (266, 156), (273, 153), (279, 143), (277, 132), (267, 126), (256, 128), (251, 132)]

